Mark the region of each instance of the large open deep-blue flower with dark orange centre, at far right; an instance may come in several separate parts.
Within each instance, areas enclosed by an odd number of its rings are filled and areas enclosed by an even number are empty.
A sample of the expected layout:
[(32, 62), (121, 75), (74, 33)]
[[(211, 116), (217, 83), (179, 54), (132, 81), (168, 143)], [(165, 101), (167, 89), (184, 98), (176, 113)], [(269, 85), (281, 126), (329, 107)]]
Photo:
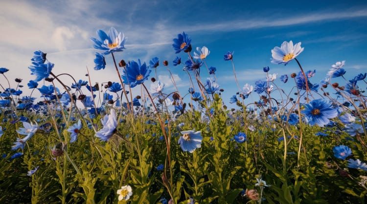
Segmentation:
[(338, 111), (333, 108), (333, 104), (323, 99), (316, 99), (309, 104), (304, 104), (305, 109), (301, 112), (305, 114), (310, 125), (327, 125), (330, 118), (338, 116)]

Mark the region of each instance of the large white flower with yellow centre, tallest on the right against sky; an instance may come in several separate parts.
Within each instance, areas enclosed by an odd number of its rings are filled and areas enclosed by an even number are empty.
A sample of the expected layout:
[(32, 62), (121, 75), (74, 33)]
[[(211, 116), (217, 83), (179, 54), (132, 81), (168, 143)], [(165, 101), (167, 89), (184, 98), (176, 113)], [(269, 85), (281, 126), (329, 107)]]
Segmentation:
[(280, 47), (272, 49), (272, 63), (287, 65), (289, 61), (295, 59), (302, 51), (301, 42), (293, 45), (293, 41), (284, 41)]

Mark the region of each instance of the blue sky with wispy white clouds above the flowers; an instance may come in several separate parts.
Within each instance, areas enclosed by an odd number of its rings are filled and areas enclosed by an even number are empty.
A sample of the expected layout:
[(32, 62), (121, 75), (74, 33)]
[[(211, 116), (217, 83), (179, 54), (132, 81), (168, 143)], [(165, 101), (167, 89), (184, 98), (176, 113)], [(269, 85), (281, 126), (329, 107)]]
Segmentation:
[[(210, 50), (206, 62), (217, 68), (218, 83), (225, 89), (223, 97), (229, 101), (237, 89), (231, 64), (223, 61), (227, 51), (234, 51), (241, 86), (265, 79), (263, 66), (270, 66), (269, 73), (278, 73), (278, 77), (297, 72), (294, 61), (287, 66), (270, 62), (271, 49), (290, 40), (301, 41), (305, 48), (298, 56), (305, 71), (317, 70), (312, 82), (320, 82), (332, 64), (343, 60), (346, 77), (353, 77), (367, 71), (366, 22), (366, 0), (1, 1), (0, 67), (10, 69), (7, 76), (12, 81), (22, 78), (23, 92), (28, 93), (26, 82), (33, 77), (27, 66), (33, 51), (40, 49), (55, 63), (54, 73), (87, 80), (84, 75), (88, 66), (93, 83), (118, 82), (110, 57), (105, 70), (92, 70), (95, 50), (89, 38), (96, 37), (97, 29), (107, 31), (113, 26), (128, 38), (127, 49), (117, 54), (118, 59), (149, 62), (159, 57), (170, 64), (176, 57), (172, 39), (185, 31), (193, 48), (206, 46)], [(186, 59), (184, 53), (179, 56)], [(182, 67), (170, 68), (186, 93), (188, 78)], [(163, 66), (158, 68), (158, 75), (167, 83), (167, 91), (173, 90)], [(5, 81), (0, 78), (0, 82)], [(275, 82), (281, 85), (278, 79)]]

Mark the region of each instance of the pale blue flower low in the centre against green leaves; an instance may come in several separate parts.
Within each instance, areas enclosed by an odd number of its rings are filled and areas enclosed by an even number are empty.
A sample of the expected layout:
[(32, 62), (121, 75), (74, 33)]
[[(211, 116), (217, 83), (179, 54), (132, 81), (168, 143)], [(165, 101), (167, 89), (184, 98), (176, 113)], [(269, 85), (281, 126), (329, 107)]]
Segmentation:
[(194, 132), (193, 130), (187, 130), (181, 132), (183, 136), (180, 137), (178, 143), (184, 152), (194, 152), (196, 148), (201, 147), (203, 137), (201, 136), (201, 131)]

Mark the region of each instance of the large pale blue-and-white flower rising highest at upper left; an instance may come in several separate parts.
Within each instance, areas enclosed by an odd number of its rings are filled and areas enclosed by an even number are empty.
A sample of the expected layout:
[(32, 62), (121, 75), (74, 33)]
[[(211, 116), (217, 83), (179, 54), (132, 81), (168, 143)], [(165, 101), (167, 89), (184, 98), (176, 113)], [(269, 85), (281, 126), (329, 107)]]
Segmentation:
[(125, 35), (121, 32), (117, 33), (114, 27), (110, 28), (108, 35), (103, 30), (97, 30), (98, 39), (91, 38), (94, 42), (93, 47), (98, 50), (105, 52), (102, 55), (108, 55), (113, 52), (121, 52), (125, 49), (124, 45), (126, 42)]

